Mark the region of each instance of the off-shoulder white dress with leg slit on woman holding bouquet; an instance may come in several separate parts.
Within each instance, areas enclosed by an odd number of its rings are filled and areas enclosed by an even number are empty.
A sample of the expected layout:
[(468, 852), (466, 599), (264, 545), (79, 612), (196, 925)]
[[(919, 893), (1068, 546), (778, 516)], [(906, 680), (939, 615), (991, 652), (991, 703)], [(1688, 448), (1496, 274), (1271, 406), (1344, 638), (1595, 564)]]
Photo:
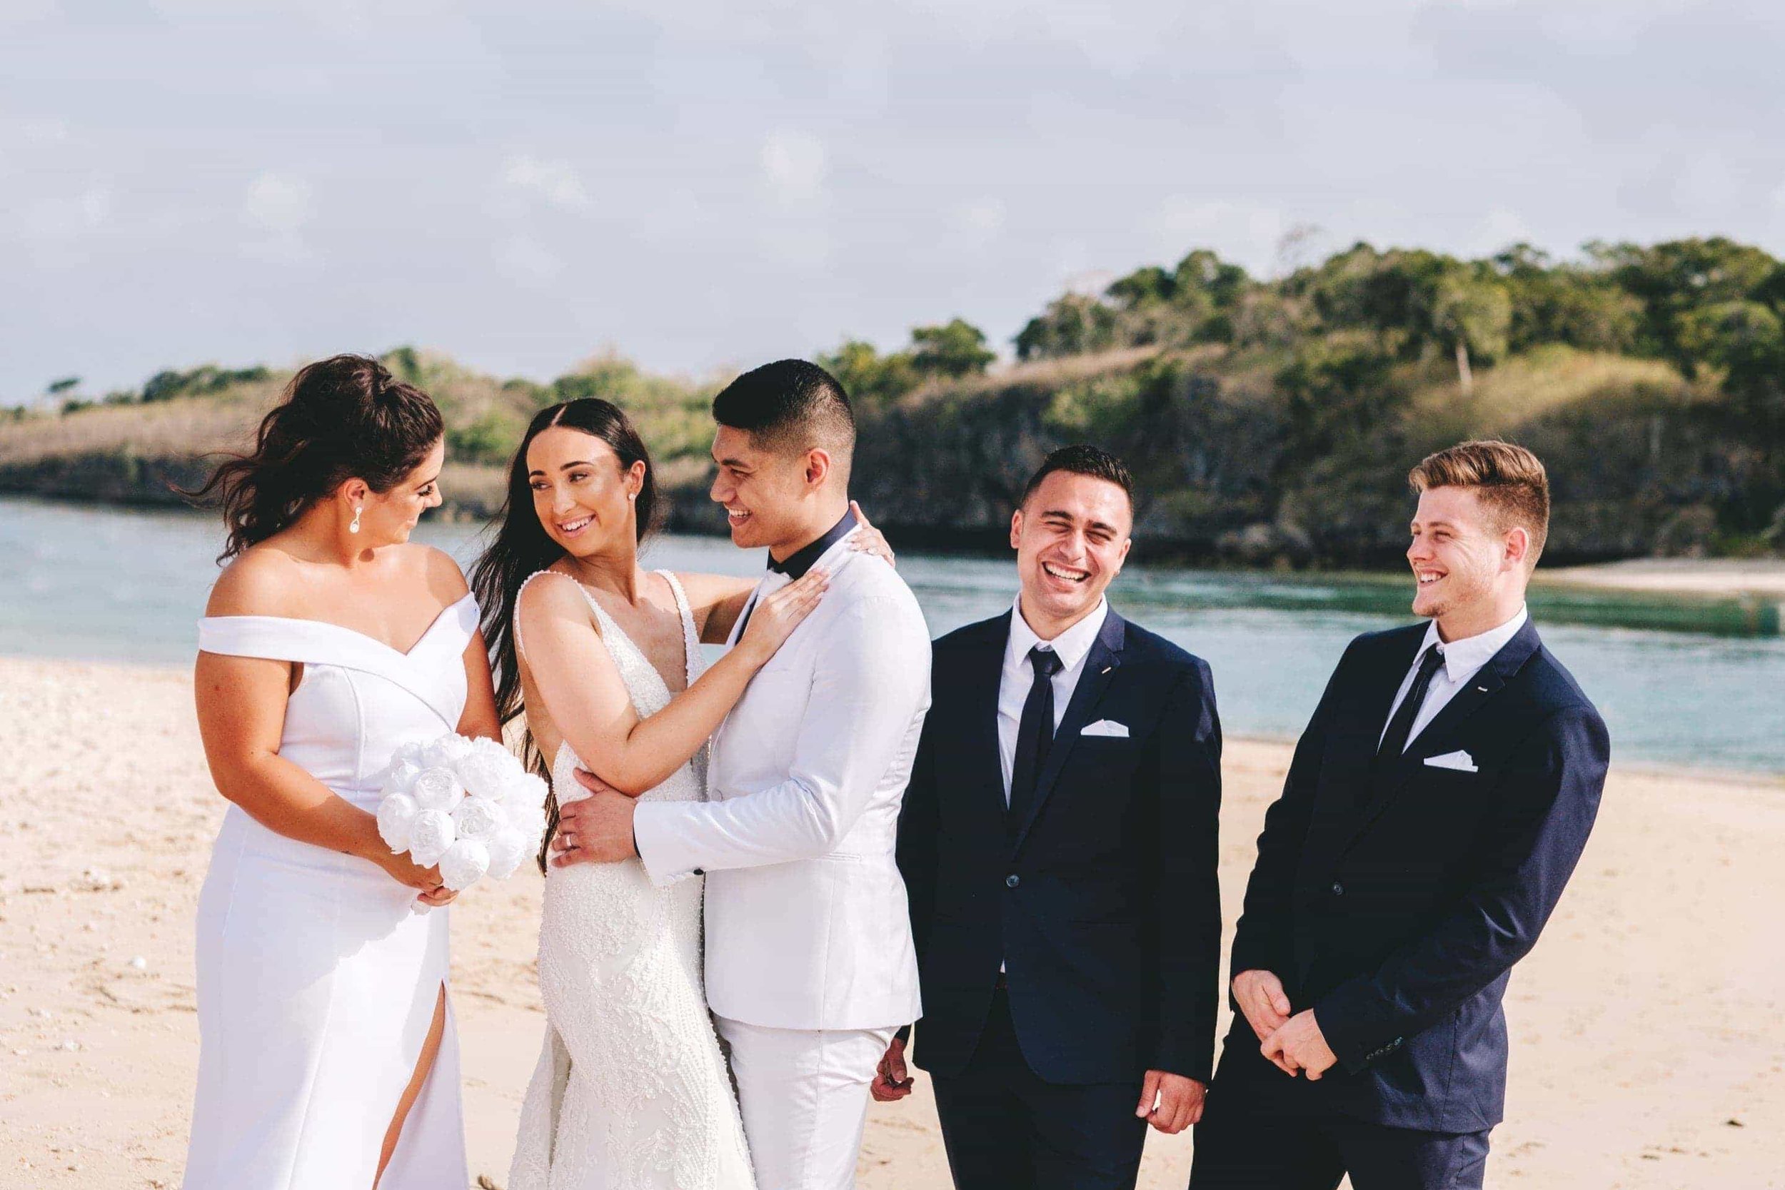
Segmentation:
[[(459, 728), (477, 601), (407, 653), (277, 616), (198, 623), (198, 648), (303, 664), (278, 755), (366, 810), (400, 746)], [(198, 896), (198, 1094), (186, 1190), (371, 1190), (446, 981), (448, 910), (373, 864), (223, 815)], [(378, 1190), (469, 1183), (446, 1038)]]

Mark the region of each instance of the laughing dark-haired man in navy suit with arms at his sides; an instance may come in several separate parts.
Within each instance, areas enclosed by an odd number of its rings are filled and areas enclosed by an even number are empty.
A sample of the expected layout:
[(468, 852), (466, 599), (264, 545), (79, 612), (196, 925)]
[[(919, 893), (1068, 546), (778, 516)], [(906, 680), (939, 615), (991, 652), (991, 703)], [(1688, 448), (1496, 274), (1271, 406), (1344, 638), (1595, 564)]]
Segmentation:
[(1048, 455), (1010, 517), (1016, 607), (935, 642), (898, 862), (962, 1190), (1133, 1186), (1146, 1126), (1201, 1115), (1221, 724), (1208, 665), (1103, 598), (1132, 523), (1119, 459)]

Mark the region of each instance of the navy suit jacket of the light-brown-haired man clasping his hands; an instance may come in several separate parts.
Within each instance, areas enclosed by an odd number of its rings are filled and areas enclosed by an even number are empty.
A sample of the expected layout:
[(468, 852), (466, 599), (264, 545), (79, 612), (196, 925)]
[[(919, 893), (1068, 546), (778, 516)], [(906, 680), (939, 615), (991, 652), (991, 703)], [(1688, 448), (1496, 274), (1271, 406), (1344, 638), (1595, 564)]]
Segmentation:
[[(1610, 742), (1526, 623), (1385, 769), (1373, 758), (1426, 626), (1358, 637), (1266, 815), (1232, 971), (1282, 978), (1339, 1056), (1282, 1074), (1235, 1017), (1223, 1083), (1276, 1110), (1480, 1131), (1507, 1090), (1507, 978), (1587, 846)], [(1467, 751), (1476, 773), (1432, 767)]]

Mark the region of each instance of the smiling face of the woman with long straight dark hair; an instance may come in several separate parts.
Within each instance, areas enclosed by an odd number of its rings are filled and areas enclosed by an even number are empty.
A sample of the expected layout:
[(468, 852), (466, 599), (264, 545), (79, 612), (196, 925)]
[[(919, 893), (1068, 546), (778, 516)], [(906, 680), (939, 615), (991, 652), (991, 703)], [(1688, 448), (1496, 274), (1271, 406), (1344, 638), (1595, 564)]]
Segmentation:
[(614, 448), (593, 434), (548, 426), (527, 444), (527, 485), (546, 537), (573, 558), (635, 546), (643, 460), (621, 467)]

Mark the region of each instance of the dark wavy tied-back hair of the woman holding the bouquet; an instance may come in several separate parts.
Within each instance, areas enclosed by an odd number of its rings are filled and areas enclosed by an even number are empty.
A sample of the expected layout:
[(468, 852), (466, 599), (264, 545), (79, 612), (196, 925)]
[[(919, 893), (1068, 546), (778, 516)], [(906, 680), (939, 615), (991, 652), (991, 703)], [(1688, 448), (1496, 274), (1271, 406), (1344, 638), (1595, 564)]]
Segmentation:
[(223, 508), (228, 539), (218, 562), (291, 526), (318, 500), (361, 478), (387, 492), (441, 441), (441, 410), (375, 359), (334, 355), (305, 364), (253, 435), (205, 483), (180, 494)]

